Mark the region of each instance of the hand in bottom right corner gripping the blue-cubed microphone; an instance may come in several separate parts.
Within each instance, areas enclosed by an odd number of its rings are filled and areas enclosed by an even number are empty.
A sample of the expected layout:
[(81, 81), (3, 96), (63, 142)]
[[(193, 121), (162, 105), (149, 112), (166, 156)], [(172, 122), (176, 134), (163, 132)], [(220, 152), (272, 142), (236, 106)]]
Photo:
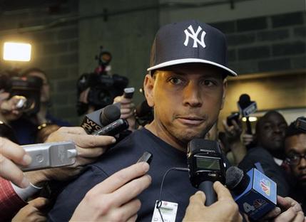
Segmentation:
[(277, 206), (270, 213), (262, 218), (261, 221), (275, 222), (302, 222), (305, 221), (305, 216), (302, 207), (297, 201), (290, 197), (277, 196)]

